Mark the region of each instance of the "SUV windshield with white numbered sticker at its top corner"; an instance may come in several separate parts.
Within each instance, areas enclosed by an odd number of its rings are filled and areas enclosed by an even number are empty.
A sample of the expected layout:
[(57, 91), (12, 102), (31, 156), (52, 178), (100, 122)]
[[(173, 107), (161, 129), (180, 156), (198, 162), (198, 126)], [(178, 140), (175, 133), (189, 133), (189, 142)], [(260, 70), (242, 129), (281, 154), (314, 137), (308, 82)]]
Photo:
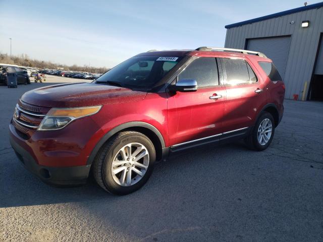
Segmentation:
[(181, 59), (174, 56), (134, 56), (104, 73), (96, 82), (149, 90)]

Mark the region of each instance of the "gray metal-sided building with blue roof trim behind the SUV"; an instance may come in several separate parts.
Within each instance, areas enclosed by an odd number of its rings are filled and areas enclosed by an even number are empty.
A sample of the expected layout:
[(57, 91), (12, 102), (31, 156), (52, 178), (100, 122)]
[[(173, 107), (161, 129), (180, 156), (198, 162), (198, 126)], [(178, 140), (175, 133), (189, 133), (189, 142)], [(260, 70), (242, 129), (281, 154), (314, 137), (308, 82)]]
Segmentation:
[[(302, 21), (310, 21), (309, 27), (301, 27)], [(260, 51), (273, 59), (284, 79), (286, 98), (297, 94), (301, 100), (305, 83), (304, 97), (310, 97), (309, 84), (314, 72), (323, 72), (323, 45), (319, 49), (323, 2), (225, 27), (225, 47)]]

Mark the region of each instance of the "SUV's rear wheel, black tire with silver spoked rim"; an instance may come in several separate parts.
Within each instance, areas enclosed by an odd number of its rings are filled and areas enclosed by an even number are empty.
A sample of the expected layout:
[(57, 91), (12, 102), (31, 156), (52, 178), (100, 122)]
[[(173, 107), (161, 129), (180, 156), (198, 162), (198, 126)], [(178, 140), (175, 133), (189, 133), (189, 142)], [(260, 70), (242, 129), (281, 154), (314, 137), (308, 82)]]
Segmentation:
[[(267, 122), (267, 120), (270, 120)], [(266, 127), (270, 127), (271, 125), (271, 133), (270, 128), (263, 129), (264, 125), (267, 122)], [(260, 127), (260, 125), (262, 127)], [(259, 133), (258, 133), (259, 131)], [(268, 134), (270, 133), (270, 138), (268, 139)], [(262, 138), (261, 138), (262, 134)], [(252, 150), (262, 151), (268, 148), (273, 141), (275, 134), (275, 121), (269, 112), (263, 112), (257, 119), (255, 126), (253, 127), (252, 131), (250, 132), (249, 136), (245, 139), (245, 143), (247, 144), (248, 148)], [(258, 139), (260, 138), (260, 141)]]

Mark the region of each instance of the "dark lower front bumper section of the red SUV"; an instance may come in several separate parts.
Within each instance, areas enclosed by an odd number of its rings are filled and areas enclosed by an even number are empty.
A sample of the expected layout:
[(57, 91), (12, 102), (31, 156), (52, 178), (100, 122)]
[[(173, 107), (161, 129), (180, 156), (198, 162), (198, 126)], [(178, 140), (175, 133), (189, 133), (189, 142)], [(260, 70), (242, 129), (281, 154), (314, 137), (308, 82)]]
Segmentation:
[(25, 168), (45, 183), (58, 186), (86, 183), (91, 165), (64, 167), (39, 165), (32, 155), (15, 141), (13, 136), (10, 136), (10, 143)]

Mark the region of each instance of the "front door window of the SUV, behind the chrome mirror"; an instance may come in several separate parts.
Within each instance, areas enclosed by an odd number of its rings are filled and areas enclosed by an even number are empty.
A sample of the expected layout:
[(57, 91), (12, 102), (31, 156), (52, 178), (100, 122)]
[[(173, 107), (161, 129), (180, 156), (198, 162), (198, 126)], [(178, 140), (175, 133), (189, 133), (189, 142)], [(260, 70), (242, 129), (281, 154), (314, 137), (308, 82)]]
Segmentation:
[(198, 87), (208, 87), (219, 85), (218, 68), (216, 58), (200, 57), (195, 59), (178, 76), (178, 80), (196, 80)]

